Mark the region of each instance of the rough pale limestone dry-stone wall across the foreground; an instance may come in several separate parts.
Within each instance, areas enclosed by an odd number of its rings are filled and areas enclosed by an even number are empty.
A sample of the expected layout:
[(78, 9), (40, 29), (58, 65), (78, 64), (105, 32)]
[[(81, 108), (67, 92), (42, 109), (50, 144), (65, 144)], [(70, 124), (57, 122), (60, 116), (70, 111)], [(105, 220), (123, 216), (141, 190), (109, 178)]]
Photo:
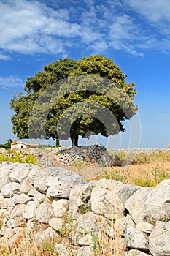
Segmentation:
[[(170, 255), (170, 180), (142, 188), (106, 179), (86, 182), (61, 167), (2, 162), (0, 223), (0, 243), (9, 246), (18, 238), (21, 248), (31, 239), (58, 238), (58, 255), (93, 256), (101, 241), (112, 241), (109, 253), (120, 255), (120, 238), (123, 256)], [(111, 255), (107, 249), (104, 255)]]

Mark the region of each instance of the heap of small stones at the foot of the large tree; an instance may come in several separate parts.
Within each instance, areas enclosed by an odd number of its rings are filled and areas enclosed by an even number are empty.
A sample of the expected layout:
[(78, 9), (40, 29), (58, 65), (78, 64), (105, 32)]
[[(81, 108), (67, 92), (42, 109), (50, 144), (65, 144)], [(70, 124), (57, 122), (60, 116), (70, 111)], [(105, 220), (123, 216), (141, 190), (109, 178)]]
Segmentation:
[(101, 166), (110, 165), (110, 157), (104, 146), (80, 146), (74, 148), (55, 148), (58, 161), (72, 164), (74, 161), (97, 163)]

